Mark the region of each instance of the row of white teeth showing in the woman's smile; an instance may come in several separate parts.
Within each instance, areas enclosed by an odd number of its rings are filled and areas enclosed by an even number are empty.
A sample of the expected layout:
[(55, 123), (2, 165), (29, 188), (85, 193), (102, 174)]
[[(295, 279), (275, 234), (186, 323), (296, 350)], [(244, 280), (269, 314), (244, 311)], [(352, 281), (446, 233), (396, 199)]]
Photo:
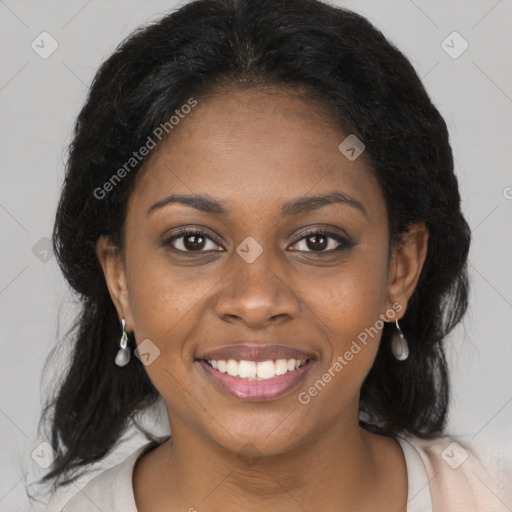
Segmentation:
[(277, 359), (276, 361), (236, 361), (235, 359), (208, 359), (208, 364), (221, 373), (249, 380), (272, 379), (306, 364), (306, 359)]

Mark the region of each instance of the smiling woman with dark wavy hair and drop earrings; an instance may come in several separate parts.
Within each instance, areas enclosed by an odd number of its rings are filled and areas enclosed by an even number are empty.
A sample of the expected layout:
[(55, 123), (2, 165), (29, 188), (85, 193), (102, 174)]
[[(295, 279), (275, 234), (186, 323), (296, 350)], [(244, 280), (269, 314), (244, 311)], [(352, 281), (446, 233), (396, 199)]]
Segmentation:
[(470, 234), (445, 122), (367, 20), (196, 0), (101, 66), (54, 229), (83, 301), (54, 487), (165, 401), (172, 436), (64, 511), (491, 510), (443, 437)]

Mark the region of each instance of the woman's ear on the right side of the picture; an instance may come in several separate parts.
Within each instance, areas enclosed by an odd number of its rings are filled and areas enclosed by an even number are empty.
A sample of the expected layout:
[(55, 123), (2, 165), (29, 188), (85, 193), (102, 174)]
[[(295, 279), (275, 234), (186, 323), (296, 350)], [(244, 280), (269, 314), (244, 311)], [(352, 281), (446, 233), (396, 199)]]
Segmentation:
[(402, 306), (398, 310), (402, 312), (400, 318), (405, 314), (407, 302), (418, 283), (427, 246), (428, 229), (423, 222), (417, 222), (409, 225), (401, 243), (392, 250), (388, 273), (388, 308), (399, 303)]

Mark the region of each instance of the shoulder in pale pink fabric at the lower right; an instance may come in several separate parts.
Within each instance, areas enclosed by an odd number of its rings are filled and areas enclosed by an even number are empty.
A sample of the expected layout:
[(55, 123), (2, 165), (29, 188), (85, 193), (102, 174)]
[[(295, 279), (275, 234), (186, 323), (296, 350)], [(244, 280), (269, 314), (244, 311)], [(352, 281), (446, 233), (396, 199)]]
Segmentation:
[(498, 512), (512, 506), (510, 468), (498, 467), (484, 450), (448, 435), (400, 437), (415, 448), (425, 466), (434, 510)]

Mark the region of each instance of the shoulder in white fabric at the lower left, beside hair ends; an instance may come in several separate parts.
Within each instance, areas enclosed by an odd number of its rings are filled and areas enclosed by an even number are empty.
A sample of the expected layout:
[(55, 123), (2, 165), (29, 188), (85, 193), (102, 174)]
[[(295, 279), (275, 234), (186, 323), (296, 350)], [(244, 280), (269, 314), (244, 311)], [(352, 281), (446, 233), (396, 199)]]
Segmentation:
[(137, 512), (133, 468), (137, 459), (155, 446), (154, 441), (144, 444), (119, 464), (96, 475), (65, 503), (60, 512)]

